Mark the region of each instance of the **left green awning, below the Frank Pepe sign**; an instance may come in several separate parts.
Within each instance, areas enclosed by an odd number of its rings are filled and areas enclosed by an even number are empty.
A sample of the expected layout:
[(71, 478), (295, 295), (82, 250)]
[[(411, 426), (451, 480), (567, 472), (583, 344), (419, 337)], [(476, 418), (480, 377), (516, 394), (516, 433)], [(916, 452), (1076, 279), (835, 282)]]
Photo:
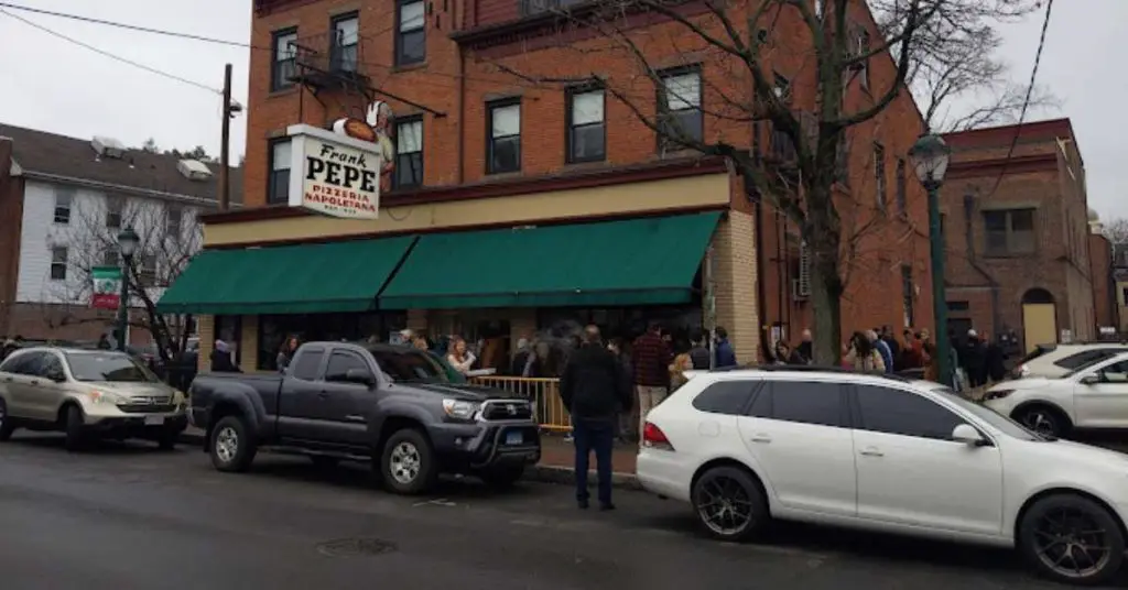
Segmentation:
[(204, 250), (157, 309), (205, 315), (369, 310), (415, 239)]

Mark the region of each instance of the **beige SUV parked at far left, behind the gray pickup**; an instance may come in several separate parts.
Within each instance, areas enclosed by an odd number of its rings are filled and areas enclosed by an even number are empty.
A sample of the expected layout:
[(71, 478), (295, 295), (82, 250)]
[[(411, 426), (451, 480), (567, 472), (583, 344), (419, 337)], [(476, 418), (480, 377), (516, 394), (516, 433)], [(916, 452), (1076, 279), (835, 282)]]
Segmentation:
[(38, 346), (0, 363), (0, 441), (27, 429), (65, 432), (68, 450), (91, 437), (171, 449), (186, 426), (184, 394), (127, 354)]

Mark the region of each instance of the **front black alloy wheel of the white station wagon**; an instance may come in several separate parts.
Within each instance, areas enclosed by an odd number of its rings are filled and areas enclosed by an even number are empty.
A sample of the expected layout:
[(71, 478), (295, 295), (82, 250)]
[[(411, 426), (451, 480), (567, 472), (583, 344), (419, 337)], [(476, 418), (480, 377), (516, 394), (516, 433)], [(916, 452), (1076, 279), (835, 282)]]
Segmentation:
[(1034, 528), (1034, 553), (1063, 578), (1085, 579), (1101, 572), (1112, 557), (1105, 530), (1092, 514), (1077, 508), (1056, 508)]

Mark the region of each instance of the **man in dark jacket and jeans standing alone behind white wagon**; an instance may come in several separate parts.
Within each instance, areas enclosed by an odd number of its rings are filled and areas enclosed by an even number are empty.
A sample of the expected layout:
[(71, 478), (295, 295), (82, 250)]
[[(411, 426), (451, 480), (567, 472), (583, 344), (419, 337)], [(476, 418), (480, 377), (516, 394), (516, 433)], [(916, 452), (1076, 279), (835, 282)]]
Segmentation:
[(572, 415), (575, 437), (575, 500), (588, 508), (588, 459), (596, 452), (599, 509), (611, 503), (611, 448), (619, 412), (631, 410), (631, 384), (615, 353), (603, 347), (598, 326), (583, 331), (583, 344), (573, 352), (561, 376), (561, 398)]

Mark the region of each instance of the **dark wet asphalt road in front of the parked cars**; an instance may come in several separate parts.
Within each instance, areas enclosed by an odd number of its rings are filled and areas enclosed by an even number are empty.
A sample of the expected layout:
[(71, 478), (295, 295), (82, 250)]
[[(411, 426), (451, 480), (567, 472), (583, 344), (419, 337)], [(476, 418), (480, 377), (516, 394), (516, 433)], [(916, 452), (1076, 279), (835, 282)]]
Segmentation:
[(0, 588), (1061, 588), (1004, 551), (807, 527), (720, 544), (680, 505), (617, 494), (607, 513), (546, 484), (493, 493), (451, 481), (406, 499), (360, 468), (300, 458), (259, 456), (228, 475), (195, 449), (69, 455), (59, 438), (17, 434), (0, 444)]

